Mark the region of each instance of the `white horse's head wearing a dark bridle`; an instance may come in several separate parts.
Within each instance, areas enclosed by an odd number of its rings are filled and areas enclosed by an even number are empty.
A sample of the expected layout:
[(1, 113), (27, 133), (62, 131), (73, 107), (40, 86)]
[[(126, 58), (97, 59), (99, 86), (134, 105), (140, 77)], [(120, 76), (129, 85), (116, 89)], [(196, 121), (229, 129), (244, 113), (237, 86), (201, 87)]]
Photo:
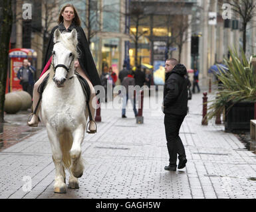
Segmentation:
[(55, 42), (53, 46), (53, 70), (55, 72), (53, 81), (57, 87), (64, 87), (66, 79), (74, 75), (74, 58), (78, 57), (76, 30), (61, 34), (58, 28), (55, 30), (53, 41)]

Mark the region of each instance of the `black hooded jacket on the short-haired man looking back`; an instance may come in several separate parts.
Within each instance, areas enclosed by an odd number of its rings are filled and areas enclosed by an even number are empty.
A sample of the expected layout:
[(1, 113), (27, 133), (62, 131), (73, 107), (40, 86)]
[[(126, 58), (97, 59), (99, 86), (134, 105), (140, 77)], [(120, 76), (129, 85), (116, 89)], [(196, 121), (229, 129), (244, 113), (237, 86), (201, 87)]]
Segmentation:
[(164, 85), (164, 113), (187, 115), (188, 107), (188, 80), (184, 77), (187, 69), (178, 64), (172, 72), (166, 74)]

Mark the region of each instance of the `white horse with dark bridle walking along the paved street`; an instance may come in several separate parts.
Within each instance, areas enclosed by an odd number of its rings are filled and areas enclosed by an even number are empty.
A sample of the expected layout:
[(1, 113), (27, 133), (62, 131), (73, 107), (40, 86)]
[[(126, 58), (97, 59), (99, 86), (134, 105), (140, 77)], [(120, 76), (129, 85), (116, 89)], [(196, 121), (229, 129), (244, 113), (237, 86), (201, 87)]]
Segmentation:
[(74, 74), (76, 30), (54, 34), (53, 60), (41, 103), (41, 120), (47, 127), (55, 163), (55, 193), (66, 193), (65, 168), (70, 172), (68, 187), (78, 188), (84, 166), (81, 144), (86, 130), (86, 98)]

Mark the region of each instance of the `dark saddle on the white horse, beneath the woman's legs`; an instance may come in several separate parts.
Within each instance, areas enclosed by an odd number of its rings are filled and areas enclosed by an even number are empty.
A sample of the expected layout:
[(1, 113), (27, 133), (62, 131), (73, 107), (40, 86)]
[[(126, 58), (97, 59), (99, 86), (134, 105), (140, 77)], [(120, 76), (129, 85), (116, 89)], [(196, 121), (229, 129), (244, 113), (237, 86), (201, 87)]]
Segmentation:
[[(88, 84), (88, 82), (82, 78), (77, 72), (75, 73), (76, 74), (76, 77), (78, 79), (78, 81), (80, 82), (81, 86), (82, 86), (82, 91), (84, 93), (84, 96), (86, 97), (86, 105), (88, 107), (88, 114), (89, 114), (89, 119), (90, 121), (93, 121), (92, 120), (92, 113), (90, 112), (90, 107), (89, 107), (89, 99), (90, 99), (90, 85)], [(34, 110), (34, 114), (37, 113), (37, 109), (39, 107), (39, 103), (42, 99), (42, 96), (43, 96), (43, 91), (45, 90), (45, 87), (47, 85), (47, 81), (49, 80), (49, 75), (50, 74), (47, 74), (46, 78), (43, 79), (43, 82), (41, 83), (41, 85), (39, 85), (39, 88), (38, 88), (38, 92), (39, 92), (39, 101), (37, 103), (37, 106), (35, 107), (35, 110)]]

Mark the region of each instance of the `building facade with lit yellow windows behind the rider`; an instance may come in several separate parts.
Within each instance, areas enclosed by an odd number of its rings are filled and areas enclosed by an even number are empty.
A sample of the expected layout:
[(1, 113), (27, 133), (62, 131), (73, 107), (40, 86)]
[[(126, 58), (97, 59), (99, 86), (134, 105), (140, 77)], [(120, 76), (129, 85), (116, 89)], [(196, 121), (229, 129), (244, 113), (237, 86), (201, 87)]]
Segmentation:
[[(78, 10), (82, 27), (99, 74), (103, 66), (118, 74), (124, 63), (163, 66), (166, 58), (180, 59), (188, 70), (199, 69), (207, 84), (208, 69), (227, 58), (229, 47), (242, 45), (241, 20), (235, 15), (223, 19), (223, 0), (13, 0), (15, 24), (11, 48), (33, 48), (37, 70), (42, 68), (44, 46), (49, 32), (57, 25), (61, 7), (72, 3)], [(23, 5), (31, 3), (32, 19), (24, 20)], [(142, 11), (138, 11), (138, 9)], [(136, 11), (141, 12), (136, 21)], [(137, 14), (138, 15), (138, 14)], [(255, 54), (255, 21), (247, 26), (247, 56)], [(194, 54), (192, 37), (197, 37)], [(193, 53), (193, 54), (192, 54)]]

